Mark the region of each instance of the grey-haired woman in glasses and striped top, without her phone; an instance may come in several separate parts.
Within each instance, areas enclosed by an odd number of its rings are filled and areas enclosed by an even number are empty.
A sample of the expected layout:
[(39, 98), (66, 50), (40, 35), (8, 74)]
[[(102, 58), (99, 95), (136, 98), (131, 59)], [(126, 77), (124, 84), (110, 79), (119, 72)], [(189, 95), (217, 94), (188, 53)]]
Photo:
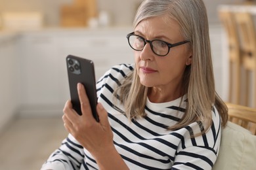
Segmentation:
[(83, 115), (68, 101), (70, 132), (42, 169), (211, 169), (227, 109), (215, 92), (202, 0), (146, 0), (127, 35), (135, 64), (97, 83), (100, 122), (77, 84)]

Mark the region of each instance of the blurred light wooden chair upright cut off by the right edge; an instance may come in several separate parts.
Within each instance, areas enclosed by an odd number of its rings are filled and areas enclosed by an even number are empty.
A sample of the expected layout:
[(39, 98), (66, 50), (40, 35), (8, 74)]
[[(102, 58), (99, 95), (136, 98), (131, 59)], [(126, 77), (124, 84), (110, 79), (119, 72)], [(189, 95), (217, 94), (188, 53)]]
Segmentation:
[(254, 22), (249, 12), (235, 12), (234, 16), (242, 50), (243, 105), (256, 107), (256, 33)]

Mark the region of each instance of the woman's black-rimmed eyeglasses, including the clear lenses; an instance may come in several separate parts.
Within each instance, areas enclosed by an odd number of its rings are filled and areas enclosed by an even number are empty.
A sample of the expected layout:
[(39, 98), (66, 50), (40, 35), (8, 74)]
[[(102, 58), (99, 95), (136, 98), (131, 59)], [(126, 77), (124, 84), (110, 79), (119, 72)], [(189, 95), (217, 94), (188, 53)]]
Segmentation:
[(144, 49), (144, 46), (146, 45), (146, 42), (148, 42), (150, 43), (151, 50), (154, 52), (154, 54), (158, 56), (166, 56), (169, 53), (170, 48), (173, 48), (175, 46), (179, 46), (182, 44), (186, 44), (187, 42), (189, 42), (189, 41), (181, 41), (175, 44), (171, 44), (169, 42), (161, 41), (159, 39), (154, 39), (150, 41), (150, 40), (144, 39), (140, 35), (136, 35), (134, 32), (127, 34), (126, 37), (128, 39), (129, 45), (131, 46), (131, 48), (133, 48), (133, 50), (142, 51)]

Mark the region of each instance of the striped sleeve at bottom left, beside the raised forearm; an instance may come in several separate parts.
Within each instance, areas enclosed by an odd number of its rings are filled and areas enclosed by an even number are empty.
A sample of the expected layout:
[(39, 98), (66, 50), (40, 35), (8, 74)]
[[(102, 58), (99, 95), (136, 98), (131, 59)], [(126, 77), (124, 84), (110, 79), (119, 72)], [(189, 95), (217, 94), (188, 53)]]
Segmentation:
[(83, 146), (72, 135), (68, 135), (60, 148), (55, 150), (45, 161), (41, 170), (80, 169), (84, 159)]

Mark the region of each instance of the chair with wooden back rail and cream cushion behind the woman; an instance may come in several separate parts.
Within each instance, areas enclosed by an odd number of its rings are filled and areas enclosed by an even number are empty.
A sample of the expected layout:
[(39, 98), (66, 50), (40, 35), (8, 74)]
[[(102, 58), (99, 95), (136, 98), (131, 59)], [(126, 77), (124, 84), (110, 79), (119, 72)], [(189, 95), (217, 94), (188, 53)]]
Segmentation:
[[(226, 105), (230, 120), (221, 132), (219, 155), (213, 170), (255, 169), (256, 109), (232, 103)], [(233, 118), (238, 118), (240, 121), (235, 121), (234, 124)]]

